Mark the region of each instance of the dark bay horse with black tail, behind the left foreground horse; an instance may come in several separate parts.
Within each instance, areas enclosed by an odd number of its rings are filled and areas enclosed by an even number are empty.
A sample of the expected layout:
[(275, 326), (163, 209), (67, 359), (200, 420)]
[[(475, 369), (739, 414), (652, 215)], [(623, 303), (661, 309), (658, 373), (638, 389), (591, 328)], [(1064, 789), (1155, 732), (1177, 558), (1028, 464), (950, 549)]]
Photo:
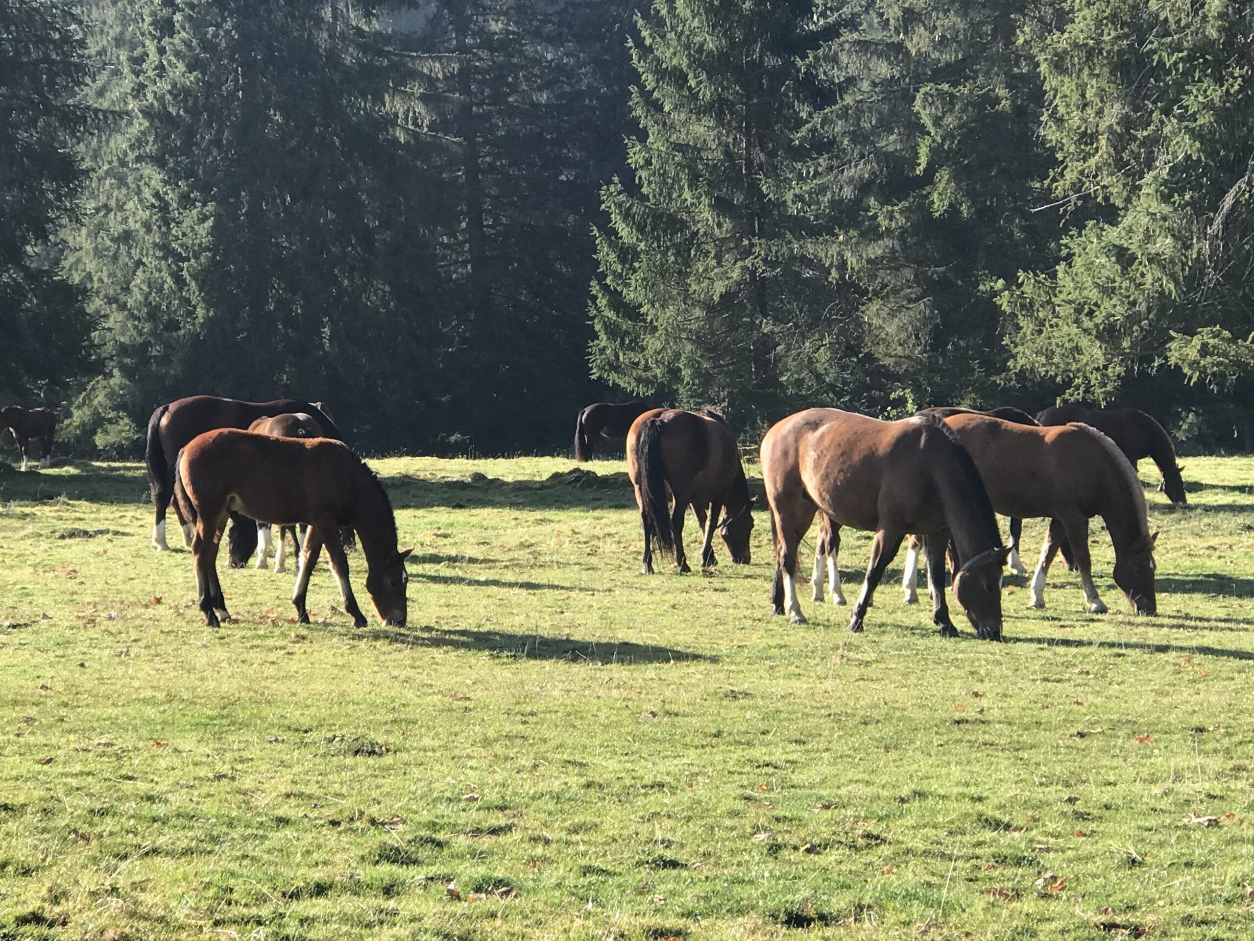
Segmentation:
[[(144, 465), (148, 473), (148, 487), (152, 491), (155, 521), (153, 523), (153, 546), (169, 550), (166, 542), (166, 509), (174, 494), (174, 463), (178, 452), (198, 434), (216, 428), (247, 429), (258, 418), (281, 415), (286, 412), (303, 412), (317, 419), (325, 437), (342, 439), (340, 429), (326, 414), (322, 403), (300, 401), (297, 399), (276, 399), (275, 401), (241, 401), (240, 399), (221, 399), (216, 395), (192, 395), (186, 399), (159, 405), (148, 419)], [(178, 507), (176, 506), (176, 512)], [(186, 519), (183, 538), (191, 545), (191, 527)], [(250, 552), (251, 555), (251, 552)], [(247, 556), (245, 556), (247, 560)]]

